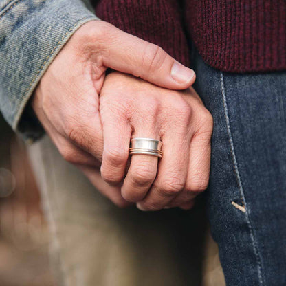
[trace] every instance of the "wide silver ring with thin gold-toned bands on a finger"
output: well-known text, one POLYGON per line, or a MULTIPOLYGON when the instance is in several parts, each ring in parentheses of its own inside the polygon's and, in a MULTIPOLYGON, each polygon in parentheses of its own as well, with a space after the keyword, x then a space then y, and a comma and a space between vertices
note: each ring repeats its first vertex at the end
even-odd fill
POLYGON ((161 148, 163 142, 160 140, 155 140, 152 138, 133 138, 131 139, 130 143, 130 155, 144 154, 162 158, 163 153, 161 148))

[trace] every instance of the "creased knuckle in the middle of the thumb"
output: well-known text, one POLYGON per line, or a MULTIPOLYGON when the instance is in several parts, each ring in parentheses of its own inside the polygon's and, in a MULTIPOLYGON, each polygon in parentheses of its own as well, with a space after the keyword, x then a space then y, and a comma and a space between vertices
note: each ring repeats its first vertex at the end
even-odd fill
POLYGON ((164 63, 165 58, 166 53, 162 47, 154 44, 146 45, 143 53, 143 63, 148 67, 148 72, 160 69, 164 63))

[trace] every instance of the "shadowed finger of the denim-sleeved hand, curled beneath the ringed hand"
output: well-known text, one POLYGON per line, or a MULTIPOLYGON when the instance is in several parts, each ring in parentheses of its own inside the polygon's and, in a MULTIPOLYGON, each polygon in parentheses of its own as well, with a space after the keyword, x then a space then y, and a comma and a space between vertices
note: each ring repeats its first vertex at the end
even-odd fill
POLYGON ((100 170, 88 166, 78 166, 78 168, 83 171, 89 181, 91 181, 91 184, 93 184, 102 195, 109 198, 116 206, 121 208, 131 206, 131 203, 122 198, 120 187, 109 186, 109 184, 102 179, 100 170))

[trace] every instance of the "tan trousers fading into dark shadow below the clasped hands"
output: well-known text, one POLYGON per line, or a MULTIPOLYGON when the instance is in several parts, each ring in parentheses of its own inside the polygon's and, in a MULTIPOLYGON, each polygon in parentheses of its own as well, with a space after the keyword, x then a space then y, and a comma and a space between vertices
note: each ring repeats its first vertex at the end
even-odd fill
POLYGON ((189 212, 120 209, 65 162, 48 137, 28 149, 50 224, 58 285, 223 285, 217 284, 223 281, 217 263, 203 259, 203 203, 189 212))

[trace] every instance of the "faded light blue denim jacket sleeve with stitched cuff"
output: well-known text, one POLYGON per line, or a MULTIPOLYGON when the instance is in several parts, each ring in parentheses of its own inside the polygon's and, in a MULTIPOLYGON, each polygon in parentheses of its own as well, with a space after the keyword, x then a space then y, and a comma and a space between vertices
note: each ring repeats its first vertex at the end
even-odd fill
POLYGON ((0 111, 24 137, 39 131, 19 122, 41 76, 70 36, 98 19, 88 2, 0 0, 0 111))

